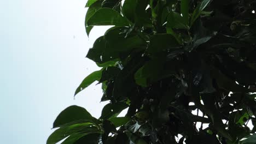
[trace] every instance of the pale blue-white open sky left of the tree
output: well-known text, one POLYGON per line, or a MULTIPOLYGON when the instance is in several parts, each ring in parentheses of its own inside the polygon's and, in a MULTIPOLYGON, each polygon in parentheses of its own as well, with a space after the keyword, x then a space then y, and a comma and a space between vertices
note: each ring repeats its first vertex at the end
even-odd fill
POLYGON ((1 143, 46 143, 57 115, 70 105, 99 117, 101 86, 73 98, 97 68, 86 53, 106 27, 85 34, 86 1, 11 0, 0 5, 1 143))

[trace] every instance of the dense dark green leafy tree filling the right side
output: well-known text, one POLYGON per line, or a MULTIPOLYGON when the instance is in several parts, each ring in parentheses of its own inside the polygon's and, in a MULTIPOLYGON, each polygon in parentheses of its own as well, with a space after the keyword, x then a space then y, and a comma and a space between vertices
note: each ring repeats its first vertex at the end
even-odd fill
POLYGON ((247 126, 256 124, 255 1, 89 0, 86 7, 88 35, 113 27, 86 56, 102 69, 75 94, 98 81, 109 104, 98 119, 67 107, 48 144, 66 137, 62 143, 256 143, 256 127, 247 126))

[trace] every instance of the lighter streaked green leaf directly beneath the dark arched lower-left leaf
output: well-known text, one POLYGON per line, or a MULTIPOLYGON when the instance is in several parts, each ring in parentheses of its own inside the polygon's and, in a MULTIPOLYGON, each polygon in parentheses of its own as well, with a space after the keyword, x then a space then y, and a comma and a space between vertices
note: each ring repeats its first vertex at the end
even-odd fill
POLYGON ((47 144, 55 144, 65 137, 72 135, 72 134, 92 134, 92 133, 101 133, 97 127, 95 127, 92 123, 80 123, 80 124, 73 124, 67 127, 62 127, 54 131, 48 137, 47 144))

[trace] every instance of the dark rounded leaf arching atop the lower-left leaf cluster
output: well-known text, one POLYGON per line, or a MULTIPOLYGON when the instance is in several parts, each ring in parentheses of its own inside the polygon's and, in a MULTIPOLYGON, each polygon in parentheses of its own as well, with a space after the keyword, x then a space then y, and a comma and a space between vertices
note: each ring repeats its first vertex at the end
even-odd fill
POLYGON ((72 105, 63 110, 54 121, 53 128, 60 127, 61 125, 71 123, 78 120, 86 120, 92 122, 95 120, 91 114, 83 107, 72 105))

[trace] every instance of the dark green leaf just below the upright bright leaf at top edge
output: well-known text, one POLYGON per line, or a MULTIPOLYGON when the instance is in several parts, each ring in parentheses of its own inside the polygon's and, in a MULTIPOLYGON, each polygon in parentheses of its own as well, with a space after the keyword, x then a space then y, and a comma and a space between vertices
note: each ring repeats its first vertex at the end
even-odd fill
POLYGON ((181 14, 176 13, 175 11, 170 11, 170 14, 167 17, 166 28, 189 29, 181 14))

